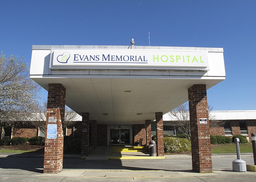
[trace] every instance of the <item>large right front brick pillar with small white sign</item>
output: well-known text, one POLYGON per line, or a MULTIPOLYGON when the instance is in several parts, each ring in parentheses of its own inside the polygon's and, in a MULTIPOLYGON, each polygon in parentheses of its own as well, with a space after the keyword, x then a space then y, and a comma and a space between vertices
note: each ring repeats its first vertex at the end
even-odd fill
POLYGON ((197 172, 212 172, 206 85, 193 85, 188 88, 188 102, 192 147, 192 170, 197 172), (200 118, 206 118, 207 123, 200 124, 200 118))

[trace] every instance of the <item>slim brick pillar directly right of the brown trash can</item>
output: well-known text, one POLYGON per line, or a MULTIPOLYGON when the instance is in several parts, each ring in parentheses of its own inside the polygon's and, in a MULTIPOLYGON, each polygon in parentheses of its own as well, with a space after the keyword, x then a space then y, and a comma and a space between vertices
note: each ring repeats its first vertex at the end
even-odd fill
POLYGON ((164 124, 162 112, 156 112, 156 140, 156 154, 157 156, 164 156, 164 124))

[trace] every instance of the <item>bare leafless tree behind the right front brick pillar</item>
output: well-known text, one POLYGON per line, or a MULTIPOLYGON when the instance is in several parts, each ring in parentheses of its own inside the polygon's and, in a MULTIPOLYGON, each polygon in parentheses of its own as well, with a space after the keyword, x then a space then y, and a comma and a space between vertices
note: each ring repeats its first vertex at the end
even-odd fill
MULTIPOLYGON (((208 105, 210 127, 218 127, 220 126, 221 121, 212 114, 212 109, 213 107, 211 105, 208 105)), ((168 115, 170 116, 170 118, 173 119, 173 122, 171 122, 170 125, 175 126, 175 128, 177 128, 182 133, 188 135, 188 137, 190 138, 191 135, 188 102, 185 102, 184 104, 181 104, 180 106, 171 110, 170 112, 168 112, 168 115)))

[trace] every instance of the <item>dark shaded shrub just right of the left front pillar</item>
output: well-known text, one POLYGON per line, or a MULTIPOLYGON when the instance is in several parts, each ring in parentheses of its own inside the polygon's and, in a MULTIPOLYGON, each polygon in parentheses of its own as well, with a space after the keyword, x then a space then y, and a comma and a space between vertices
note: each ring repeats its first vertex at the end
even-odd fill
POLYGON ((64 153, 81 153, 81 138, 69 138, 63 144, 64 153))

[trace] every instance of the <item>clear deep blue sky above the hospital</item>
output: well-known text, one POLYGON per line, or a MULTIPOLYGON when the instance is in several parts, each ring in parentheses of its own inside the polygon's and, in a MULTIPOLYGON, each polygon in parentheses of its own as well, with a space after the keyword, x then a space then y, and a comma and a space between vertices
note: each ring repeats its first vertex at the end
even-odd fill
MULTIPOLYGON (((226 80, 207 91, 213 110, 256 110, 256 1, 0 0, 0 51, 32 45, 224 48, 226 80), (229 104, 230 103, 230 104, 229 104)), ((42 97, 47 92, 42 91, 42 97)))

